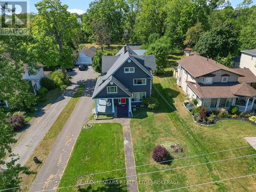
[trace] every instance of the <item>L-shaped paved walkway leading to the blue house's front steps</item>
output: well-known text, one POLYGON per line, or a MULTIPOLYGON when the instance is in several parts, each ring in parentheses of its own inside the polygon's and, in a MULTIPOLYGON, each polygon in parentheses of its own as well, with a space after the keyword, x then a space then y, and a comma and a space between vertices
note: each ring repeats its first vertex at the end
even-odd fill
POLYGON ((89 123, 120 123, 123 126, 123 145, 125 154, 126 180, 129 192, 138 192, 133 141, 130 127, 130 118, 114 118, 109 120, 91 120, 89 123), (132 176, 132 177, 130 177, 132 176))

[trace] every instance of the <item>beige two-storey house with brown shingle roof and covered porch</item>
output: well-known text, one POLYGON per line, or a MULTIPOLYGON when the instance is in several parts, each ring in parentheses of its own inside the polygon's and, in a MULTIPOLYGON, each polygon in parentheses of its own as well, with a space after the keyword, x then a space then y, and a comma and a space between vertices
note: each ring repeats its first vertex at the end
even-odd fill
POLYGON ((251 87, 256 76, 249 69, 229 69, 215 60, 191 55, 178 61, 177 84, 189 99, 208 111, 229 109, 252 110, 256 90, 251 87))

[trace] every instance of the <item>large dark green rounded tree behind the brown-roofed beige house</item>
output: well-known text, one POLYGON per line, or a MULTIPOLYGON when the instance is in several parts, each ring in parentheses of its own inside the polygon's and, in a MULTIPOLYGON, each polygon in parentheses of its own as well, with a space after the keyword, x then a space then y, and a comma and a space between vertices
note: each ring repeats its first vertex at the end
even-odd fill
POLYGON ((226 23, 203 33, 193 50, 212 58, 217 55, 226 57, 237 51, 237 36, 236 29, 226 23))

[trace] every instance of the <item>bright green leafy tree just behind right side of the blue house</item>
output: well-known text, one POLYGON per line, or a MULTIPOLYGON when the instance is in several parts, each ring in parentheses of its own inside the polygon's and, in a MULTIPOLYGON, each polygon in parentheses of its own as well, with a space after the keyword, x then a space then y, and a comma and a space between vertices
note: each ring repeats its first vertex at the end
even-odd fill
POLYGON ((167 37, 161 37, 153 44, 148 46, 146 52, 147 55, 155 55, 157 73, 162 73, 167 65, 167 56, 169 55, 172 47, 170 46, 170 39, 167 37))

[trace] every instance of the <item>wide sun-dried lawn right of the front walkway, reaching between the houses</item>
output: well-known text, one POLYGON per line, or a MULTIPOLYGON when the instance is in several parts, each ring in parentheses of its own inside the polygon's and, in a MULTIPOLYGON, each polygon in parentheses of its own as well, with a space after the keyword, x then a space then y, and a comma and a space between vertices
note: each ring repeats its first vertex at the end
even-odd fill
MULTIPOLYGON (((175 78, 167 74, 161 77, 155 77, 154 85, 176 110, 173 111, 160 98, 155 89, 153 89, 153 96, 157 97, 160 101, 159 109, 154 113, 148 112, 145 109, 140 109, 136 112, 138 116, 131 120, 136 165, 154 163, 151 156, 156 144, 164 144, 169 151, 169 146, 172 143, 180 144, 184 149, 183 153, 170 153, 174 159, 177 159, 246 146, 248 143, 243 137, 256 136, 256 126, 245 121, 222 120, 218 121, 214 126, 209 127, 199 126, 194 123, 191 115, 182 105, 182 102, 186 99, 185 95, 177 87, 175 78)), ((255 154, 255 150, 252 147, 197 158, 177 160, 164 165, 141 166, 137 167, 137 174, 249 154, 255 154)), ((253 164, 255 163, 256 156, 253 156, 138 176, 139 181, 146 180, 148 183, 162 180, 179 181, 178 185, 140 184, 139 189, 140 191, 159 191, 253 174, 255 173, 255 166, 254 171, 248 167, 253 169, 253 164)), ((179 191, 253 191, 255 187, 255 179, 244 178, 181 189, 179 191)))

